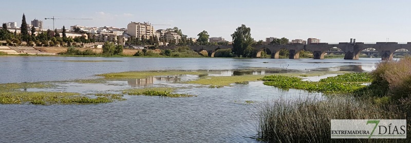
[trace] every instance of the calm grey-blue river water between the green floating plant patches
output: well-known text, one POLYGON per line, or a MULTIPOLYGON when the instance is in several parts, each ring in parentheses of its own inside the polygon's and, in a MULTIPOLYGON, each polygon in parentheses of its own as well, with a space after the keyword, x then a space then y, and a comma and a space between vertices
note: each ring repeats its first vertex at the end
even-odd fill
MULTIPOLYGON (((314 70, 366 72, 375 68, 378 62, 379 58, 320 60, 0 56, 0 83, 57 82, 97 78, 95 74, 101 73, 146 70, 221 70, 221 74, 215 76, 231 76, 238 69, 250 68, 258 69, 250 74, 264 74, 270 69, 305 73, 314 70)), ((186 86, 174 83, 175 79, 150 78, 148 80, 154 81, 148 84, 141 84, 139 79, 111 81, 109 84, 67 81, 58 83, 61 84, 58 89, 42 90, 91 93, 159 85, 186 86)), ((176 80, 196 78, 182 75, 176 80)), ((320 77, 312 80, 317 78, 320 77)), ((262 81, 215 89, 186 88, 178 92, 197 97, 125 96, 127 100, 98 105, 0 105, 0 142, 257 142, 244 136, 256 135, 253 114, 259 103, 279 98, 321 98, 320 93, 293 89, 284 91, 265 86, 262 81), (248 104, 246 101, 253 103, 248 104)))

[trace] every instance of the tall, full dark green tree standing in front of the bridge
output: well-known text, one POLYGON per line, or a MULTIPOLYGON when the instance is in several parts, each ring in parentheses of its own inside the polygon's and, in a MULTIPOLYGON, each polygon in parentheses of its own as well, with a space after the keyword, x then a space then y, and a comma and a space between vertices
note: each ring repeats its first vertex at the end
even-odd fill
POLYGON ((241 25, 231 34, 233 37, 233 52, 235 55, 241 57, 244 55, 244 50, 254 43, 251 37, 251 28, 246 25, 241 25))

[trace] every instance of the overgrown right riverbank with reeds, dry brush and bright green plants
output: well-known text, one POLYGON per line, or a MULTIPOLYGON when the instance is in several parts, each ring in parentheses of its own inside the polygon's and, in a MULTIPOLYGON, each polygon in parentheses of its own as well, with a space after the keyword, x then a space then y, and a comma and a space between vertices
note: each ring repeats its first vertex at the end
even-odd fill
MULTIPOLYGON (((332 77, 323 82, 358 84, 371 80, 370 86, 355 90, 334 90, 343 96, 314 97, 296 101, 274 100, 259 106, 255 119, 260 140, 270 142, 411 142, 407 139, 331 139, 331 119, 407 119, 407 136, 411 135, 411 58, 380 63, 369 76, 332 77), (364 77, 364 78, 357 78, 364 77)), ((353 75, 353 74, 350 74, 353 75)), ((348 75, 347 75, 348 76, 348 75)), ((306 89, 294 77, 267 76, 269 85, 306 89), (279 80, 283 78, 286 81, 279 80), (297 84, 296 84, 297 83, 297 84)), ((321 81, 320 81, 321 82, 321 81)), ((307 83, 304 83, 307 84, 307 83)), ((310 87, 310 85, 307 85, 310 87)), ((327 84, 321 89, 332 90, 327 84), (326 89, 323 89, 326 88, 326 89)), ((343 88, 345 89, 345 88, 343 88)), ((307 90, 311 90, 308 88, 307 90)))

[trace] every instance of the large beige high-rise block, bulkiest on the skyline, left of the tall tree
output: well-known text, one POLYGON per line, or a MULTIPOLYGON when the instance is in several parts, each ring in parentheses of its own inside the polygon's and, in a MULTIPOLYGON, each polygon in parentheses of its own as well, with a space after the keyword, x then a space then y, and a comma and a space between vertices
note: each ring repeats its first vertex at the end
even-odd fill
POLYGON ((127 25, 127 33, 139 38, 150 38, 150 36, 154 36, 154 27, 145 22, 131 22, 127 25))

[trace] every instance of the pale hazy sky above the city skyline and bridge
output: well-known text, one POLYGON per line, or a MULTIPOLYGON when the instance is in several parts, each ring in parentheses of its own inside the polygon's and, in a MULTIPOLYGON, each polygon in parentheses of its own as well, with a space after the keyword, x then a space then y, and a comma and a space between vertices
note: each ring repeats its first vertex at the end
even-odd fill
POLYGON ((241 24, 251 28, 255 40, 266 37, 291 39, 319 38, 321 42, 411 42, 411 1, 5 1, 0 22, 21 25, 42 19, 45 29, 52 20, 45 17, 92 18, 55 20, 55 27, 72 25, 127 28, 130 22, 171 25, 188 37, 203 30, 211 37, 226 38, 241 24))

